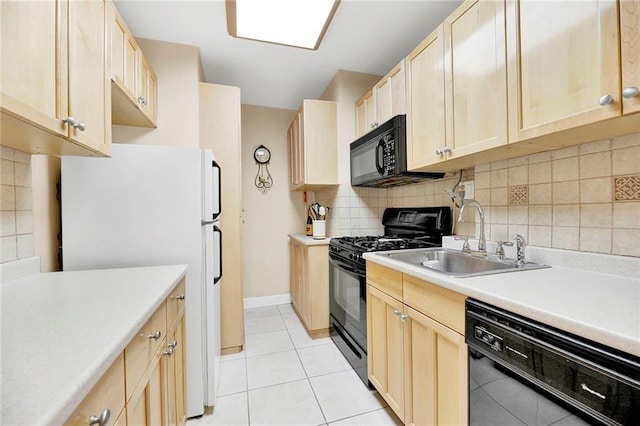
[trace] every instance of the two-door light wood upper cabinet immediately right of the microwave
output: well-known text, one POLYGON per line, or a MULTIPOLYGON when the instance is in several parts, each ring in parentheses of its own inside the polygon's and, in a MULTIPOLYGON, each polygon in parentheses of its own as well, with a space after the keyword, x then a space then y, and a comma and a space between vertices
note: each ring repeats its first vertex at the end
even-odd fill
POLYGON ((407 57, 409 170, 506 145, 504 19, 502 2, 467 1, 407 57))

